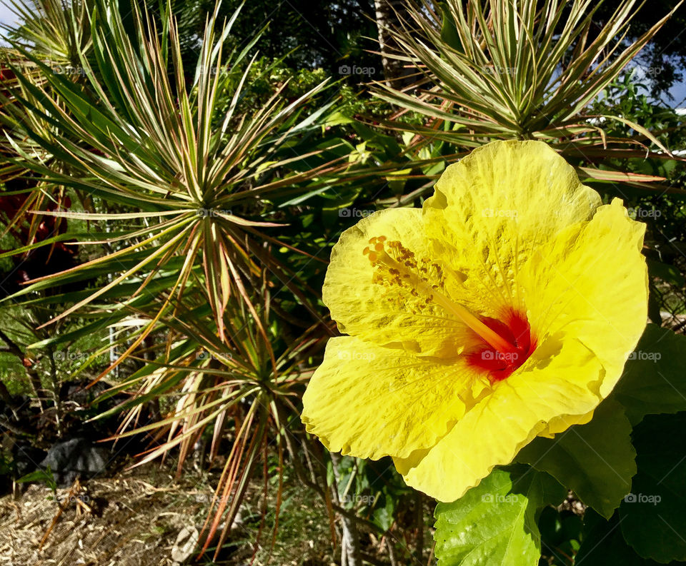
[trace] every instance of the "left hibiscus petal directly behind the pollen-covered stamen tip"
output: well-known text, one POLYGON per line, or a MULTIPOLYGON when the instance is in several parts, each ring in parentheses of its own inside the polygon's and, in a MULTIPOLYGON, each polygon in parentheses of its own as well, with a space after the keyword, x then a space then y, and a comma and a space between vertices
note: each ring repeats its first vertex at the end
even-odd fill
POLYGON ((389 209, 344 231, 332 250, 322 298, 342 333, 377 345, 453 356, 474 335, 429 298, 428 290, 442 289, 444 280, 424 236, 422 211, 389 209), (379 237, 385 238, 383 243, 370 243, 379 237), (409 256, 408 266, 399 266, 402 273, 397 275, 369 261, 370 254, 377 253, 375 246, 382 249, 393 242, 399 242, 409 256), (420 269, 425 271, 419 273, 420 269), (426 281, 417 281, 418 276, 426 281))

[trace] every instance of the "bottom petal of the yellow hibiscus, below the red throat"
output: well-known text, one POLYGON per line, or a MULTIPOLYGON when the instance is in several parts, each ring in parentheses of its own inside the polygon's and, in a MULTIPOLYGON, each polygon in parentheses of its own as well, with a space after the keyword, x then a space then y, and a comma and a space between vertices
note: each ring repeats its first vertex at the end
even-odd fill
POLYGON ((478 485, 495 465, 512 462, 548 421, 588 413, 603 369, 573 338, 550 337, 530 362, 497 384, 429 450, 394 458, 407 485, 440 501, 454 501, 478 485))

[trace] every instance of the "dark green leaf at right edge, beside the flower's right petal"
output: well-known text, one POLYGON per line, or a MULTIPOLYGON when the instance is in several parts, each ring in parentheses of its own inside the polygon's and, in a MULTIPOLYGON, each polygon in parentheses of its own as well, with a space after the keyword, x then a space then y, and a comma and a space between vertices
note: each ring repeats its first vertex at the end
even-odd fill
POLYGON ((624 405, 632 425, 645 415, 686 410, 684 351, 686 336, 647 325, 612 393, 624 405))

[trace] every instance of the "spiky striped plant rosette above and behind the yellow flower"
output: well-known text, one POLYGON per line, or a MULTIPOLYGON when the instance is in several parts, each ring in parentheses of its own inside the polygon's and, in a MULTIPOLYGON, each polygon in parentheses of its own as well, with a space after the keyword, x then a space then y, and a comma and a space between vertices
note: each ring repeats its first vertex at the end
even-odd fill
MULTIPOLYGON (((417 84, 398 91, 377 83, 374 92, 404 111, 429 118, 407 128, 417 139, 474 148, 493 139, 540 139, 597 181, 642 185, 662 178, 597 166, 602 158, 670 157, 646 128, 622 116, 592 115, 588 106, 638 54, 673 13, 635 41, 627 38, 637 2, 624 0, 600 27, 600 1, 447 0, 411 4, 400 29, 400 52, 414 67, 417 84), (603 121, 627 124, 634 135, 611 138, 603 121)), ((675 6, 677 9, 678 5, 675 6)), ((421 145, 421 144, 420 144, 421 145)))

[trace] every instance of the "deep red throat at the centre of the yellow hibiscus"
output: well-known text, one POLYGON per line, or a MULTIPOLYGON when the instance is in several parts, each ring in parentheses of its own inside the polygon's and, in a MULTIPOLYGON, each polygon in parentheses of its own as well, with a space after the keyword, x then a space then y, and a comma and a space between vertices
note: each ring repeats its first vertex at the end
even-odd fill
POLYGON ((467 355, 472 368, 488 374, 491 383, 507 379, 536 349, 536 338, 526 315, 511 310, 504 321, 484 316, 482 323, 494 330, 507 343, 507 348, 494 348, 483 338, 477 348, 467 355))

